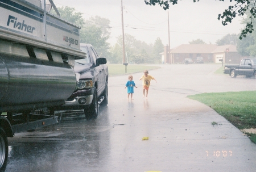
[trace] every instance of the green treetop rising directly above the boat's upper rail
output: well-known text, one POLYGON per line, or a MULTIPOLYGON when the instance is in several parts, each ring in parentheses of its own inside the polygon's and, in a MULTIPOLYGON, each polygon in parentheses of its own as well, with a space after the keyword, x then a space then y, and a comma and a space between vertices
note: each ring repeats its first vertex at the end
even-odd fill
MULTIPOLYGON (((60 17, 71 22, 79 27, 84 25, 84 19, 82 18, 81 12, 75 12, 75 8, 72 7, 57 7, 58 11, 60 12, 60 17)), ((55 11, 51 10, 53 14, 56 14, 55 11)))

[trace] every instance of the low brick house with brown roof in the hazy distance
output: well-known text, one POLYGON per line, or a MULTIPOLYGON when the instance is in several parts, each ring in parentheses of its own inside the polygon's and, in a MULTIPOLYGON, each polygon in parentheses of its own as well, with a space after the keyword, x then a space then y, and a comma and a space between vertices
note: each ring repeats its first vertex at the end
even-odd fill
POLYGON ((203 57, 204 62, 225 64, 238 64, 243 58, 238 52, 236 45, 213 45, 213 44, 181 44, 168 52, 168 46, 164 47, 162 62, 167 64, 183 63, 185 58, 191 58, 193 61, 196 57, 203 57))

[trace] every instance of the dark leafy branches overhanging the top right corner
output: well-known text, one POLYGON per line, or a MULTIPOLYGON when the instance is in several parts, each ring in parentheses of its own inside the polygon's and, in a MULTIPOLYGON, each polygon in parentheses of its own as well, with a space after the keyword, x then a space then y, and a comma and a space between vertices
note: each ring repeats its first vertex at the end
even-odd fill
MULTIPOLYGON (((160 5, 163 6, 164 10, 169 9, 170 5, 177 4, 179 0, 144 0, 147 5, 160 5)), ((181 1, 181 0, 180 0, 181 1)), ((199 0, 193 0, 196 2, 199 0)), ((224 1, 224 0, 219 0, 224 1)), ((247 33, 252 33, 254 31, 253 22, 256 18, 256 1, 255 0, 229 0, 230 2, 234 1, 234 5, 229 6, 222 14, 218 14, 218 20, 222 20, 221 23, 226 26, 228 23, 231 23, 232 20, 238 15, 243 16, 248 12, 249 20, 246 23, 246 27, 242 30, 239 39, 246 37, 247 33)))

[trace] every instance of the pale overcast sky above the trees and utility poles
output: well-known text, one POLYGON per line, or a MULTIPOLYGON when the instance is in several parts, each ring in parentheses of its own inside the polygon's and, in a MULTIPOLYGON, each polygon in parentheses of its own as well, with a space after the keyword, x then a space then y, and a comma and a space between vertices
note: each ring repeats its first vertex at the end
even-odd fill
MULTIPOLYGON (((74 7, 76 12, 82 12, 84 19, 91 16, 101 16, 110 20, 112 35, 108 40, 112 45, 121 30, 121 0, 55 0, 57 6, 74 7)), ((240 33, 243 27, 241 17, 237 16, 228 26, 222 26, 217 19, 229 5, 234 2, 214 0, 179 1, 170 5, 170 45, 171 48, 189 41, 202 39, 205 43, 215 44, 218 39, 230 33, 240 33)), ((123 20, 125 33, 135 36, 135 39, 154 44, 157 37, 168 44, 168 14, 159 5, 149 6, 144 0, 123 0, 123 20)))

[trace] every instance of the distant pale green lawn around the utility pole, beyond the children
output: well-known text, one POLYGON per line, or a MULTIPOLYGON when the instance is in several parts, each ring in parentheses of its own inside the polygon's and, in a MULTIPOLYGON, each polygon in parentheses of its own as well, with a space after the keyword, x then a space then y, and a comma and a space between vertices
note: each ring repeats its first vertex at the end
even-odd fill
MULTIPOLYGON (((114 75, 123 75, 125 73, 125 65, 122 64, 108 64, 110 77, 114 75)), ((148 65, 127 65, 127 74, 143 72, 144 70, 158 69, 159 66, 148 66, 148 65)))

